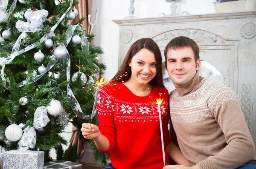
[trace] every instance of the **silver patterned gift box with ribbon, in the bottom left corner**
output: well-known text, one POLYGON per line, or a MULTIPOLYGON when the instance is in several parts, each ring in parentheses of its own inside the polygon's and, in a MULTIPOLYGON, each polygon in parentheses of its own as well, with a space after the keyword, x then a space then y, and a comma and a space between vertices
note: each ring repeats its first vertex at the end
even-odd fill
POLYGON ((44 152, 30 150, 4 152, 3 169, 44 169, 44 152))

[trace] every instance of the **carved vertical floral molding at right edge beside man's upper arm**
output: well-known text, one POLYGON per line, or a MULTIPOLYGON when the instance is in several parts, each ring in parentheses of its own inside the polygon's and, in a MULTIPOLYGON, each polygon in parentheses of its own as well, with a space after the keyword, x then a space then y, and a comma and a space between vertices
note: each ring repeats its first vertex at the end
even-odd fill
POLYGON ((241 109, 244 114, 245 121, 250 130, 253 133, 252 123, 253 123, 253 86, 242 84, 241 86, 241 109))

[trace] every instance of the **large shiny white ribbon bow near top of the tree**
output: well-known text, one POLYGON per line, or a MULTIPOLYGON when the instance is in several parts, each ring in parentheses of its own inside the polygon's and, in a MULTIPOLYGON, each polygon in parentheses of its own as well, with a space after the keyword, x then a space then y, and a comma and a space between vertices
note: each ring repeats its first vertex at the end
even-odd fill
POLYGON ((47 16, 48 11, 45 9, 33 11, 27 16, 27 22, 18 20, 15 27, 19 32, 36 32, 41 29, 47 16))

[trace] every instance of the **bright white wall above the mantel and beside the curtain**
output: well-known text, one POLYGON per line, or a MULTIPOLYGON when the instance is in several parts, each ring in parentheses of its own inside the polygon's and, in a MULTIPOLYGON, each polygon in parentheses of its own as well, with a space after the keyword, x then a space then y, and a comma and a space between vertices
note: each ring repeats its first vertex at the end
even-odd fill
MULTIPOLYGON (((215 13, 214 0, 182 0, 177 3, 176 13, 188 11, 189 14, 215 13)), ((171 3, 165 0, 135 0, 134 16, 158 17, 160 13, 169 14, 171 3)), ((93 0, 92 22, 95 20, 97 9, 97 23, 94 27, 94 44, 101 46, 104 54, 100 55, 100 61, 105 63, 107 79, 110 80, 118 70, 118 44, 119 26, 111 20, 119 20, 129 15, 129 0, 93 0)), ((125 55, 125 53, 124 53, 125 55)))

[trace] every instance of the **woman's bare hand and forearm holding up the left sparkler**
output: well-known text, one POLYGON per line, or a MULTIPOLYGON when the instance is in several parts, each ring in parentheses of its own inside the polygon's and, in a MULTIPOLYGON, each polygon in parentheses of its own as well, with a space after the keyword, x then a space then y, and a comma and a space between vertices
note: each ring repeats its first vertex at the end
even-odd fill
POLYGON ((102 151, 108 150, 110 145, 108 138, 101 134, 98 126, 90 123, 83 123, 81 132, 85 139, 93 139, 98 149, 102 151))

